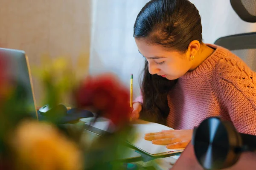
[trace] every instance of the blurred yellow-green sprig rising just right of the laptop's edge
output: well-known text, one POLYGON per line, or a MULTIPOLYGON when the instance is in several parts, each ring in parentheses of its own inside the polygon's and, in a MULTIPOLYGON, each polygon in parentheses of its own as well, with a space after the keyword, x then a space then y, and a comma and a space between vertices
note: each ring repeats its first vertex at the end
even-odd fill
POLYGON ((77 82, 75 68, 67 57, 51 59, 49 55, 43 55, 41 67, 32 66, 32 73, 43 86, 44 103, 52 106, 67 102, 65 99, 77 82))

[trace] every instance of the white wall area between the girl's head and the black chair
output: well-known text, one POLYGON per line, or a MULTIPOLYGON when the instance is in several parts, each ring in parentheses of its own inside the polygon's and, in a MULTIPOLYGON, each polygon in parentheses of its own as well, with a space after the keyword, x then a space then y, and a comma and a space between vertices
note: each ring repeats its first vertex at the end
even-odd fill
POLYGON ((256 23, 239 18, 230 0, 190 0, 198 8, 203 26, 203 39, 214 43, 220 37, 256 31, 256 23))

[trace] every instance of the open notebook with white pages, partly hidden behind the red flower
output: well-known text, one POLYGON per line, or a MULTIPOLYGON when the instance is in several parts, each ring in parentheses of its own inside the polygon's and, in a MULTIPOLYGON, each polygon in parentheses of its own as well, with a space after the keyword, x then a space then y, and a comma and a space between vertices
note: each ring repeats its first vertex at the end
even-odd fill
MULTIPOLYGON (((111 129, 108 129, 109 121, 107 119, 99 119, 96 123, 94 123, 93 127, 109 131, 111 129)), ((86 123, 89 125, 90 123, 86 123)), ((135 128, 135 140, 134 139, 127 139, 127 142, 131 144, 132 146, 136 147, 138 150, 143 151, 144 153, 147 153, 151 156, 161 156, 161 155, 168 155, 172 153, 179 153, 184 150, 184 148, 178 148, 178 149, 167 149, 166 145, 159 145, 159 144, 152 144, 151 141, 147 141, 144 139, 144 136, 146 133, 154 133, 154 132, 160 132, 162 130, 173 130, 170 127, 147 122, 143 120, 137 120, 133 122, 132 124, 135 128)), ((97 133, 97 132, 96 132, 97 133)))

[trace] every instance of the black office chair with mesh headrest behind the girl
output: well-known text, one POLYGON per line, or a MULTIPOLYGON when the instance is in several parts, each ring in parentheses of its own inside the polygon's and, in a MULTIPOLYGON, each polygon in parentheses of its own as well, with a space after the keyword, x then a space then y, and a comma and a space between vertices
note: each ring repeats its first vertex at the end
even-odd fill
MULTIPOLYGON (((230 0, 238 16, 256 23, 256 0, 230 0)), ((253 71, 256 71, 256 32, 221 37, 214 42, 239 56, 253 71)))

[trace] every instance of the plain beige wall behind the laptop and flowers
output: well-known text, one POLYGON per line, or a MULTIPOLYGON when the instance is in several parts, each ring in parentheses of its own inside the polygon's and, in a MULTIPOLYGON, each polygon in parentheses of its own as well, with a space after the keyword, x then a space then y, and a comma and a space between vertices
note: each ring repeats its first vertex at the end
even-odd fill
MULTIPOLYGON (((37 67, 43 67, 43 54, 70 57, 70 65, 84 54, 82 72, 87 74, 91 0, 0 0, 0 8, 0 47, 26 51, 30 65, 37 67)), ((41 82, 33 71, 32 77, 37 103, 44 105, 41 82)))

